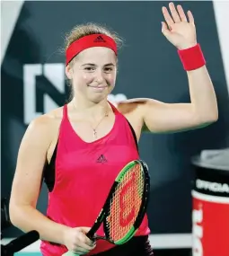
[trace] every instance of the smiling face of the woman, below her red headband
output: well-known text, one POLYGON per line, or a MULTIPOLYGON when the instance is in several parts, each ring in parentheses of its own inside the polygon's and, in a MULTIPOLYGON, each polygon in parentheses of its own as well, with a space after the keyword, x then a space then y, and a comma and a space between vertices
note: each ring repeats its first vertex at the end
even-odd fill
POLYGON ((72 80, 76 98, 84 97, 89 102, 101 102, 115 86, 117 57, 109 48, 84 49, 75 57, 72 66, 66 66, 66 75, 72 80))

